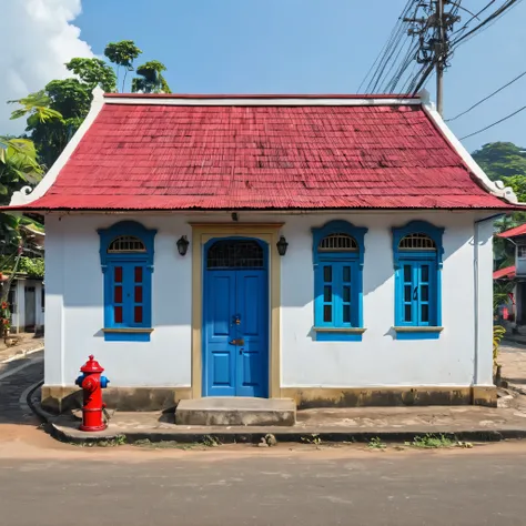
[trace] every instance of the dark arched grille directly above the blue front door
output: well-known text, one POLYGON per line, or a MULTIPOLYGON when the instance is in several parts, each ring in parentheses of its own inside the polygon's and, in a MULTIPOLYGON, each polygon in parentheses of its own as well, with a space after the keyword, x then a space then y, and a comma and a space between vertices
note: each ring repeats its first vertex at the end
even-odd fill
POLYGON ((255 241, 218 241, 206 254, 206 269, 263 267, 263 247, 255 241))

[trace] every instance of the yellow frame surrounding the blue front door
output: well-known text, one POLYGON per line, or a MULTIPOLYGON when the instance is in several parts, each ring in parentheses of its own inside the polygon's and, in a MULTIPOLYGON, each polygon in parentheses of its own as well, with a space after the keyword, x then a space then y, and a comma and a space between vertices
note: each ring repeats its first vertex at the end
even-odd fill
POLYGON ((190 223, 192 226, 192 398, 202 397, 203 252, 214 237, 255 237, 269 244, 269 397, 281 397, 281 262, 276 243, 283 223, 190 223))

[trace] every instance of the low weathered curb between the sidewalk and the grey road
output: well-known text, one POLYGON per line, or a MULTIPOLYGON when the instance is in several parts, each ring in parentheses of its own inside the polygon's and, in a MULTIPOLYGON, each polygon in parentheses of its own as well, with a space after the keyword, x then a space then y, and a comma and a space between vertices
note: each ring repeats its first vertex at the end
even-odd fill
POLYGON ((267 434, 274 435, 277 442, 281 443, 301 443, 310 444, 315 441, 327 442, 327 443, 368 443, 372 438, 380 438, 383 442, 388 443, 404 443, 412 442, 416 437, 423 437, 425 435, 444 435, 451 439, 457 442, 500 442, 505 439, 520 439, 526 438, 526 428, 520 429, 473 429, 473 431, 451 431, 451 429, 414 429, 414 431, 342 431, 342 432, 313 432, 308 431, 280 431, 275 427, 270 427, 266 432, 250 432, 241 429, 230 429, 218 433, 216 429, 206 431, 163 431, 163 432, 148 432, 148 431, 107 431, 103 434, 88 434, 80 433, 77 429, 70 432, 70 428, 57 425, 55 423, 50 424, 50 434, 60 442, 67 442, 70 444, 98 444, 108 442, 117 442, 133 444, 141 441, 150 441, 152 443, 160 442, 175 442, 179 444, 195 444, 195 443, 210 443, 216 444, 257 444, 262 442, 267 434))

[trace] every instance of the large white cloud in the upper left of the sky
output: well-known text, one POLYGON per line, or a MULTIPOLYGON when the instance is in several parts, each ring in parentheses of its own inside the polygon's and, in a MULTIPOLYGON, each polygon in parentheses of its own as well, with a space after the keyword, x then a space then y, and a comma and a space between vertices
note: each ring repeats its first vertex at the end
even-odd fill
POLYGON ((0 8, 0 135, 18 133, 24 122, 10 121, 12 104, 42 89, 50 80, 68 77, 64 62, 93 57, 71 22, 81 0, 2 0, 0 8))

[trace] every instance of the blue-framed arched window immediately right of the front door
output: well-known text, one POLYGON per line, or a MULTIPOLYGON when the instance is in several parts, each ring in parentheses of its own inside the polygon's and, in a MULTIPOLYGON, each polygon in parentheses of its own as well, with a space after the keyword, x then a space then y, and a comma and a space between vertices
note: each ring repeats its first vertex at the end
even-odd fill
POLYGON ((317 341, 360 341, 367 229, 332 221, 313 229, 314 331, 317 341))

